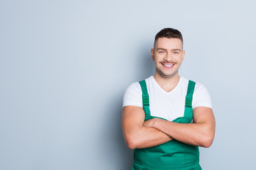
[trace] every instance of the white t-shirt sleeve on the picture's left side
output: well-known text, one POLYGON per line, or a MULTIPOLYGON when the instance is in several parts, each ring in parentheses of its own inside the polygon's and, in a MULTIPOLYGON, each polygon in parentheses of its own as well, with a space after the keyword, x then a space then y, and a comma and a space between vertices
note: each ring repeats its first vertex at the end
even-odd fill
POLYGON ((139 106, 142 104, 142 89, 139 82, 131 84, 124 93, 123 108, 124 106, 139 106))

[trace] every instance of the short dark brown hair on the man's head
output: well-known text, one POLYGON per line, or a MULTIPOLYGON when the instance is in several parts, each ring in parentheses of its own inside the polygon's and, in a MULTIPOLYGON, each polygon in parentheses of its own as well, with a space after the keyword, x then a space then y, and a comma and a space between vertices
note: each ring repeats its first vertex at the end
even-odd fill
POLYGON ((183 38, 182 38, 181 32, 179 32, 179 30, 176 30, 174 28, 164 28, 160 30, 159 33, 157 33, 155 36, 154 47, 156 45, 156 41, 159 38, 178 38, 181 40, 183 45, 183 38))

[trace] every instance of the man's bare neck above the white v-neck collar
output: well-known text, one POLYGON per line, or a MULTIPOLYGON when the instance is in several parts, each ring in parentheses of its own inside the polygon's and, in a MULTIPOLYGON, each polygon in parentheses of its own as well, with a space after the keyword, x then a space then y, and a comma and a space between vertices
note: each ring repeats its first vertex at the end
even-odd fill
POLYGON ((178 73, 173 77, 162 77, 159 74, 155 74, 154 79, 156 80, 157 84, 164 89, 164 91, 169 92, 177 86, 181 77, 178 75, 178 73))

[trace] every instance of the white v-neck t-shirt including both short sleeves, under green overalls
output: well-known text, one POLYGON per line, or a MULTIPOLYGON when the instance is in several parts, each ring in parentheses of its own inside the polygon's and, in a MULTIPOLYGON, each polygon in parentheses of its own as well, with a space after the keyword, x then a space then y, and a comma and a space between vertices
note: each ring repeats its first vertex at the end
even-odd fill
MULTIPOLYGON (((149 109, 151 116, 164 118, 172 121, 176 118, 183 117, 185 110, 186 93, 188 89, 188 79, 181 77, 177 86, 169 92, 157 84, 153 76, 146 79, 146 87, 149 93, 149 109)), ((124 93, 124 106, 139 106, 142 104, 142 88, 139 82, 131 84, 124 93)), ((205 106, 212 108, 210 95, 203 86, 196 82, 193 92, 192 107, 205 106)))

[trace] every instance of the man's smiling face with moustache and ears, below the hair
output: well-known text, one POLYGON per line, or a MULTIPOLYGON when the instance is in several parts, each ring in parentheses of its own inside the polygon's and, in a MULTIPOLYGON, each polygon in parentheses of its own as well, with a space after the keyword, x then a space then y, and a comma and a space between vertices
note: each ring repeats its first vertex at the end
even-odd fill
POLYGON ((151 57, 156 64, 156 76, 171 78, 178 75, 184 54, 180 39, 159 38, 154 49, 151 49, 151 57))

